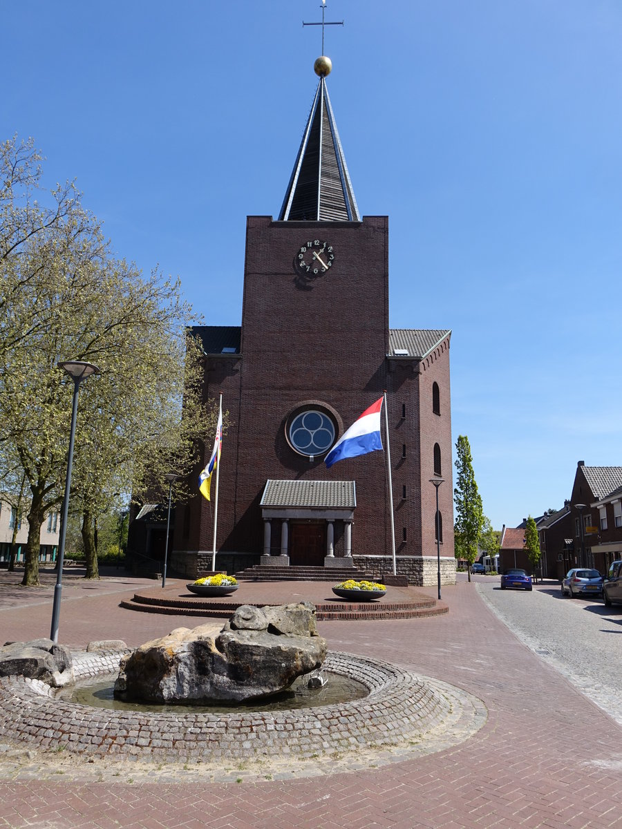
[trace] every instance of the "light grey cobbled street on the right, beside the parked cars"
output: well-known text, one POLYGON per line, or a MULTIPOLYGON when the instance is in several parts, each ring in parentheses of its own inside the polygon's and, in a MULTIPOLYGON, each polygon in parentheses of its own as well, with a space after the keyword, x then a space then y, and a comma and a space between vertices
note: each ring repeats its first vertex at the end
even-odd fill
POLYGON ((498 576, 474 576, 479 594, 508 628, 622 725, 622 606, 562 599, 547 581, 502 590, 498 576))

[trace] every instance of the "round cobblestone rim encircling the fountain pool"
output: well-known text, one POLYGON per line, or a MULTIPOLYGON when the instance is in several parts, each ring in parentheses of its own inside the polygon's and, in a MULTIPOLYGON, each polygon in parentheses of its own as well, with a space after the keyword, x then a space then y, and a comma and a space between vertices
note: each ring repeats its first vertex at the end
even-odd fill
MULTIPOLYGON (((76 653, 76 679, 114 671, 119 652, 76 653)), ((323 667, 367 686, 361 699, 304 710, 176 714, 109 710, 56 697, 41 681, 0 680, 0 737, 48 758, 63 752, 97 762, 196 764, 213 776, 226 764, 256 764, 279 756, 299 771, 321 770, 322 758, 365 768, 459 744, 485 723, 484 704, 444 682, 388 662, 330 653, 323 667)), ((100 764, 101 765, 101 764, 100 764)))

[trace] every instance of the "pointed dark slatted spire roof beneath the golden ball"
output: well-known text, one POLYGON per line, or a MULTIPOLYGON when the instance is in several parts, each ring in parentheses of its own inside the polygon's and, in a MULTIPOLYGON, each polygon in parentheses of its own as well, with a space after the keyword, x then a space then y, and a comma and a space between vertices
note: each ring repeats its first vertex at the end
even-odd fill
POLYGON ((324 78, 315 92, 279 221, 361 221, 324 78))

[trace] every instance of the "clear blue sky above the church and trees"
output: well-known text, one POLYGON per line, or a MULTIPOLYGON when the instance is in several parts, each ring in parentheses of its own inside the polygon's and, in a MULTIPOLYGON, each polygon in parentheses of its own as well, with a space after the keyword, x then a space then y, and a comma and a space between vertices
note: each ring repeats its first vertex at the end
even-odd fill
MULTIPOLYGON (((391 327, 451 328, 454 443, 500 528, 620 465, 622 4, 328 0, 328 89, 391 327)), ((275 216, 319 0, 7 2, 0 138, 75 178, 114 250, 238 325, 245 216, 275 216)))

